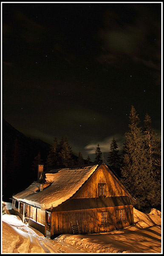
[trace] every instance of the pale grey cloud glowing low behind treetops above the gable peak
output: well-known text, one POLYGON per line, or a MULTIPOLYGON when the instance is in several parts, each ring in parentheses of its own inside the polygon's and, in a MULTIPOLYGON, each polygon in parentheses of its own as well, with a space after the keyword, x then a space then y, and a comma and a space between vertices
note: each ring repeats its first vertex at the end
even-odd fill
POLYGON ((125 137, 122 136, 121 134, 115 134, 113 136, 106 137, 102 141, 91 142, 85 147, 85 151, 87 152, 87 154, 95 154, 96 147, 99 144, 100 149, 103 153, 109 153, 110 144, 112 143, 113 137, 116 140, 119 151, 122 151, 122 146, 125 142, 125 137))

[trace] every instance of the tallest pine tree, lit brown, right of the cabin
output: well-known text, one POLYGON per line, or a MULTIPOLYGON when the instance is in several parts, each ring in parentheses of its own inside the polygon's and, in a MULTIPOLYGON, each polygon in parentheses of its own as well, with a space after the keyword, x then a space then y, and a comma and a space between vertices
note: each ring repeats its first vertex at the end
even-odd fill
POLYGON ((123 166, 122 183, 137 198, 136 204, 138 209, 144 207, 147 192, 145 188, 149 177, 144 168, 144 151, 141 140, 141 128, 138 128, 139 117, 135 108, 132 106, 130 111, 130 131, 125 134, 126 142, 123 146, 123 166))

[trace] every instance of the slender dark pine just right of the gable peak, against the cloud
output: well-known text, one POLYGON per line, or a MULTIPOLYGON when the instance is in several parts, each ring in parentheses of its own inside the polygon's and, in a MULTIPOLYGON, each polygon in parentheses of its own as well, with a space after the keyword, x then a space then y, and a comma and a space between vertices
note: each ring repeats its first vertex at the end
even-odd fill
POLYGON ((116 171, 117 175, 120 176, 120 163, 121 158, 119 156, 119 148, 116 143, 116 140, 113 138, 112 143, 110 144, 110 152, 107 157, 107 162, 109 165, 116 171))

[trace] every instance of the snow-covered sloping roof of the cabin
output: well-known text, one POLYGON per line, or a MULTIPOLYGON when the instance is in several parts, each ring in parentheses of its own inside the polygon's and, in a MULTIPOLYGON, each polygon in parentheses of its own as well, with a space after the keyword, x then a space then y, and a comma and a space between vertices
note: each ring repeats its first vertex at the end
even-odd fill
POLYGON ((47 183, 52 182, 51 186, 38 191, 40 183, 35 181, 27 189, 13 195, 13 198, 42 210, 57 207, 76 193, 93 174, 97 166, 65 168, 45 173, 45 180, 47 183))

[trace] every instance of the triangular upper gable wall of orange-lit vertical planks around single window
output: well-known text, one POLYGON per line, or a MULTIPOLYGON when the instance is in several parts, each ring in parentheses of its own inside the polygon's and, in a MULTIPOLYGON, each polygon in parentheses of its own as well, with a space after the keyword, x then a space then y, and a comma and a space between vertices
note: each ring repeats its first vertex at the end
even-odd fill
POLYGON ((106 197, 127 195, 126 191, 113 178, 105 166, 101 166, 96 173, 85 183, 79 191, 76 192, 74 198, 97 198, 98 183, 106 183, 106 197))

